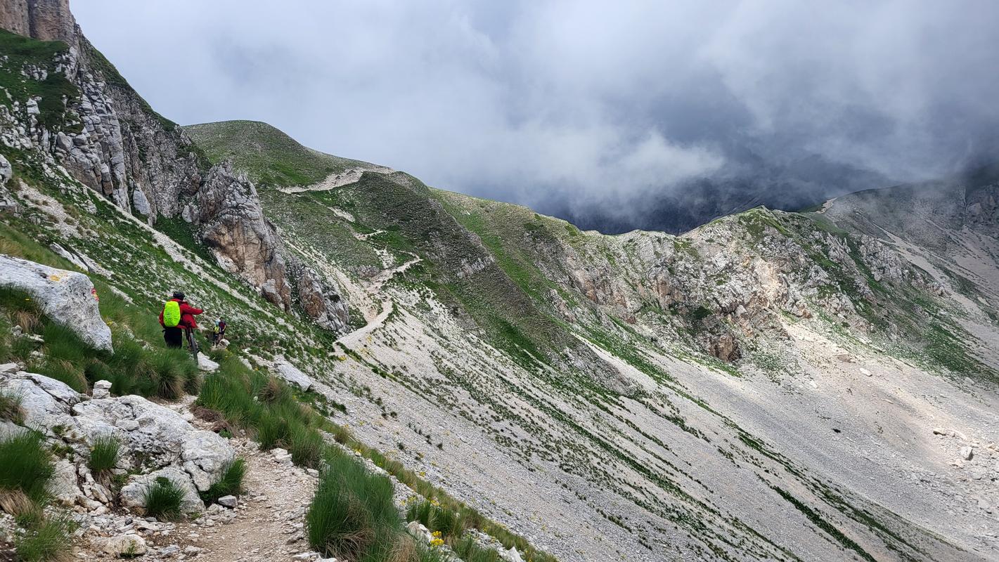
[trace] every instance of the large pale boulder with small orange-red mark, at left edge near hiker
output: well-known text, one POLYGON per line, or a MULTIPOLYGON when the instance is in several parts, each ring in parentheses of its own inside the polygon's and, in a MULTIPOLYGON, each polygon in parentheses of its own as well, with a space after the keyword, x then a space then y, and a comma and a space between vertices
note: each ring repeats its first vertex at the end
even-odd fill
POLYGON ((87 276, 0 256, 0 285, 30 294, 45 315, 90 346, 112 350, 111 329, 101 318, 97 290, 87 276))

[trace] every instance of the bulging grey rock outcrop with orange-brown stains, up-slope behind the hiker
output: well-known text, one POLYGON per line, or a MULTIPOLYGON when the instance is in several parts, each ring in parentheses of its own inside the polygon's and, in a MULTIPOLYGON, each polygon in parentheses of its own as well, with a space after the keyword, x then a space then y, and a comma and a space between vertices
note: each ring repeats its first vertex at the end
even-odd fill
POLYGON ((289 309, 284 247, 264 217, 257 189, 233 174, 228 163, 212 169, 205 184, 184 208, 223 270, 258 287, 265 298, 289 309))

